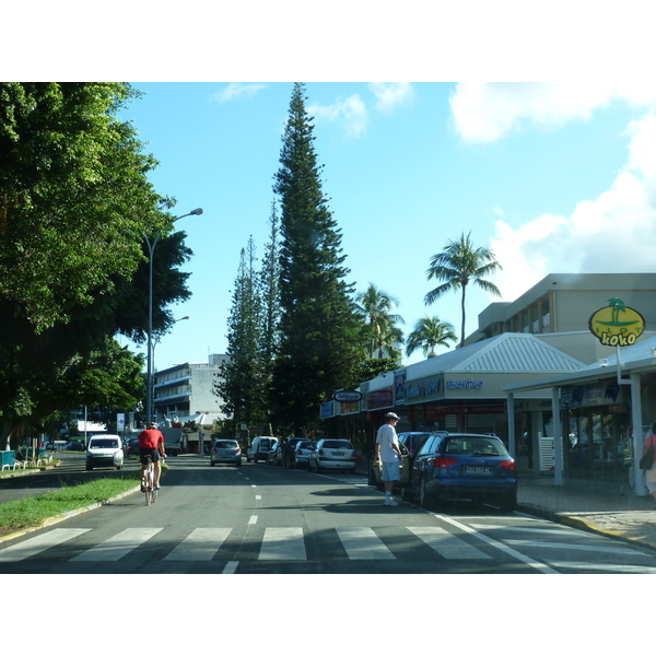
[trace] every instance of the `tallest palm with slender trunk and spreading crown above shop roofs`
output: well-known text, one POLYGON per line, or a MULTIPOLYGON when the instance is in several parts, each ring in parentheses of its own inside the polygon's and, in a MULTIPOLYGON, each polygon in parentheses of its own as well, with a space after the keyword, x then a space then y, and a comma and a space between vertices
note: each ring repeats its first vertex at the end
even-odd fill
POLYGON ((460 347, 465 344, 465 294, 467 285, 473 283, 485 292, 501 296, 496 285, 483 277, 501 270, 501 265, 494 259, 490 248, 475 248, 471 243, 471 233, 460 236, 458 242, 449 241, 444 250, 431 258, 431 266, 426 270, 427 279, 445 281, 444 284, 431 290, 424 298, 431 305, 436 298, 449 290, 462 290, 462 326, 460 332, 460 347))

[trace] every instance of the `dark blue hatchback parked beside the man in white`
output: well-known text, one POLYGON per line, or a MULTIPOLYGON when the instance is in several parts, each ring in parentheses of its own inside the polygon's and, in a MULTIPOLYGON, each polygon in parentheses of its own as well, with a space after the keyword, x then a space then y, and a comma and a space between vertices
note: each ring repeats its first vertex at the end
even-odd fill
POLYGON ((412 458, 407 495, 427 509, 446 499, 468 499, 512 512, 517 505, 517 466, 495 435, 434 434, 412 458))

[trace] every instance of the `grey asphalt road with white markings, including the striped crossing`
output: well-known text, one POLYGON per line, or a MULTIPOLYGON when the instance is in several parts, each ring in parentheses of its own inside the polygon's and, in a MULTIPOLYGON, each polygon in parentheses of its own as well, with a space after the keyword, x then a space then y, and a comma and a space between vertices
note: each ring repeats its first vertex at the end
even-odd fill
POLYGON ((656 573, 651 552, 520 513, 384 506, 358 476, 169 464, 155 505, 137 492, 4 541, 0 574, 656 573))

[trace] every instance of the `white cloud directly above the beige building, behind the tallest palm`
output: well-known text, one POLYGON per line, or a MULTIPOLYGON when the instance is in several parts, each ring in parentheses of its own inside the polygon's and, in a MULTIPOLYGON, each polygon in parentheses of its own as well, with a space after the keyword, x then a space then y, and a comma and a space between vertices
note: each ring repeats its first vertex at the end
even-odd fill
POLYGON ((628 163, 611 187, 570 216, 544 214, 514 230, 496 222, 494 277, 513 301, 548 273, 619 273, 656 269, 656 116, 629 127, 628 163))

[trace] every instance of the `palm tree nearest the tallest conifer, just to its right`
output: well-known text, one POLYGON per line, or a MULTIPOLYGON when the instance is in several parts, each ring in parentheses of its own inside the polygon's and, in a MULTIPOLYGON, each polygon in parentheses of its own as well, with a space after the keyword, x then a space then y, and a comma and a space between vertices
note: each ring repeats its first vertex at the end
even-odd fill
POLYGON ((401 315, 393 314, 398 301, 370 282, 367 290, 358 295, 355 303, 367 327, 370 358, 374 358, 375 352, 378 358, 383 358, 384 352, 394 358, 394 353, 399 353, 395 344, 403 341, 403 333, 396 325, 406 323, 401 315))

